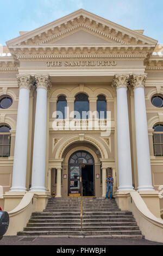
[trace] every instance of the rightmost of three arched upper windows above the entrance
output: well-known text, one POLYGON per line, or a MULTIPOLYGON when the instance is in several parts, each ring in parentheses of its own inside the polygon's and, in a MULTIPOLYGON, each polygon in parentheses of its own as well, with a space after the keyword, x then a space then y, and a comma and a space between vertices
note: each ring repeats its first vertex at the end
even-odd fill
POLYGON ((106 119, 106 97, 99 95, 97 99, 97 118, 106 119))

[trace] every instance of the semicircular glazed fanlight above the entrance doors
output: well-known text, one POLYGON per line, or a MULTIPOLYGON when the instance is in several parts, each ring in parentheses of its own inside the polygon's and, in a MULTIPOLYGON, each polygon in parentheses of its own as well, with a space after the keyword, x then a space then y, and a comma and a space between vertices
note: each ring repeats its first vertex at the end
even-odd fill
POLYGON ((90 153, 86 151, 78 151, 73 153, 69 159, 69 164, 79 164, 79 163, 94 163, 93 157, 90 153))

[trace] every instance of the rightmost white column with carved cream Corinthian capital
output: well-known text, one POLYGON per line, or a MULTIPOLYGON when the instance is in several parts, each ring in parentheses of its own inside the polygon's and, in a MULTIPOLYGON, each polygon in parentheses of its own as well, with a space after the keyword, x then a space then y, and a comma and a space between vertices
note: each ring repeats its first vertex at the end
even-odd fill
POLYGON ((139 191, 153 190, 144 89, 146 78, 147 75, 144 74, 133 75, 132 79, 135 99, 135 128, 139 191))

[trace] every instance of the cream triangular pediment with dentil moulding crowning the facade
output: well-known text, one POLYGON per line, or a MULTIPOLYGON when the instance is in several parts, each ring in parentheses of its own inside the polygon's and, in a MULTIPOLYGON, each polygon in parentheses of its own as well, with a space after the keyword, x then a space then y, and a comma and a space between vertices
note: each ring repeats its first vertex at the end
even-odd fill
POLYGON ((156 45, 157 41, 80 9, 7 42, 8 47, 42 44, 156 45), (87 34, 85 34, 87 33, 87 34), (82 38, 82 34, 84 35, 82 38), (87 35, 87 38, 86 38, 87 35))

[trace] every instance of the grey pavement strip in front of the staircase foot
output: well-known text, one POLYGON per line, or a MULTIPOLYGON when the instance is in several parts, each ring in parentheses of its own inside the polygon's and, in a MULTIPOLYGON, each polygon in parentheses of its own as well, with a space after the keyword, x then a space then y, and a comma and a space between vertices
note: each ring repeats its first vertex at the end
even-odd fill
POLYGON ((145 239, 98 239, 98 238, 66 238, 66 237, 43 237, 43 236, 4 236, 0 240, 1 245, 163 245, 145 239))

